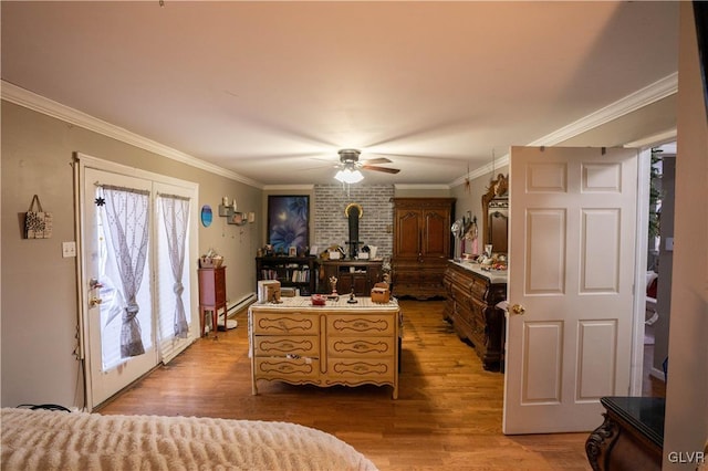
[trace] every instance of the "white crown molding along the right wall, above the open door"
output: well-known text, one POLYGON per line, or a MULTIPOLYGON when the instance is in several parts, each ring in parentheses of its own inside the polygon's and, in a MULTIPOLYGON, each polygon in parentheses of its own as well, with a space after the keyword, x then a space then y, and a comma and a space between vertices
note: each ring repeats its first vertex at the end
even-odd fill
MULTIPOLYGON (((624 98, 621 98, 603 108, 597 109, 594 113, 589 114, 585 117, 582 117, 568 126, 563 126, 562 128, 554 130, 553 133, 546 134, 545 136, 533 140, 532 143, 527 144, 527 146, 554 146, 559 143, 570 139, 571 137, 575 137, 580 134, 583 134, 590 129, 593 129, 597 126, 602 126, 603 124, 610 123, 613 119, 617 119, 628 113, 637 111, 644 106, 650 105, 652 103, 658 102, 662 98, 666 98, 678 92, 678 72, 675 72, 670 75, 665 76, 650 85, 641 88, 624 98)), ((664 133, 660 137, 666 138, 666 136, 670 134, 670 132, 664 133)), ((674 136, 675 136, 674 132, 674 136)), ((652 136, 646 139, 642 139, 641 142, 657 142, 659 137, 652 136)), ((636 143, 641 143, 636 142, 636 143)), ((632 144, 632 143, 631 143, 632 144)), ((503 167, 504 165, 509 165, 509 154, 498 158, 494 163, 489 163, 483 167, 471 171, 469 175, 460 177, 452 181, 450 187, 457 187, 459 185, 465 184, 467 178, 475 179, 481 177, 482 175, 487 175, 490 171, 493 171, 498 167, 503 167), (494 168, 492 168, 492 165, 494 168)))

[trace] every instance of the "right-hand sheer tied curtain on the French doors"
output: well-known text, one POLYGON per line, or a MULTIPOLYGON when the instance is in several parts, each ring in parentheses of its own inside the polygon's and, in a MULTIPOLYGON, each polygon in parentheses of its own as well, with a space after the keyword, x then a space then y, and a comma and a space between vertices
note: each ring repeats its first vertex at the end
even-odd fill
POLYGON ((167 236, 167 249, 169 264, 174 278, 173 291, 175 293, 175 321, 174 334, 179 338, 187 338, 189 325, 185 314, 183 301, 183 273, 185 269, 185 248, 187 229, 189 227, 189 198, 176 195, 159 195, 162 203, 165 233, 167 236))

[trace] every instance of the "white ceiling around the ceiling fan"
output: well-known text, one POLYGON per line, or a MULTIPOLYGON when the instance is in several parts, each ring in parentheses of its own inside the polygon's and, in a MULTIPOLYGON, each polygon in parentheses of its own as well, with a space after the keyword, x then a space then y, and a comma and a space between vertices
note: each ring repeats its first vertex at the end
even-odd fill
POLYGON ((677 2, 2 1, 2 80, 259 186, 345 147, 450 185, 675 76, 677 36, 677 2))

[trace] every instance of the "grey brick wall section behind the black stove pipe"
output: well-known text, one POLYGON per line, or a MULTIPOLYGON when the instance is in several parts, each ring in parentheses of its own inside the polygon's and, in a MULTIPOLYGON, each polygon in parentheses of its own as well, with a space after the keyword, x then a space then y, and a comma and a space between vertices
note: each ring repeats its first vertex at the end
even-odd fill
POLYGON ((355 202, 364 210, 358 220, 358 239, 366 245, 378 247, 376 257, 393 252, 393 185, 314 186, 314 242, 322 252, 330 245, 342 245, 348 254, 348 220, 344 209, 355 202))

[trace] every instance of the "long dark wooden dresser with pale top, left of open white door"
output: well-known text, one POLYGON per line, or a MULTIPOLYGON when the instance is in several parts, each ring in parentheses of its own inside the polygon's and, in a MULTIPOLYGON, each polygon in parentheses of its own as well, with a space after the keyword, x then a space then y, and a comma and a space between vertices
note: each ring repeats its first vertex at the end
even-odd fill
POLYGON ((475 346, 485 369, 501 369, 504 313, 497 303, 507 299, 507 273, 486 272, 477 264, 449 261, 445 287, 444 317, 452 323, 460 338, 475 346))

